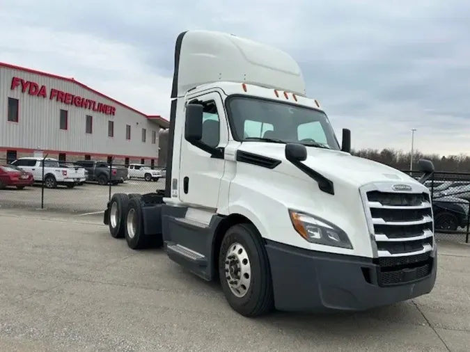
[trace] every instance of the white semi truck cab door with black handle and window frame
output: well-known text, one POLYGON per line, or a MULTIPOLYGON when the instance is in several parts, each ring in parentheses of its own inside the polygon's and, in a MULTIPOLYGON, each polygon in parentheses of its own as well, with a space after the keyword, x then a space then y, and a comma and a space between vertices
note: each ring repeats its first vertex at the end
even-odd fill
MULTIPOLYGON (((222 98, 219 93, 205 93, 188 98, 203 104, 203 139, 212 147, 225 147, 228 143, 228 127, 222 98)), ((182 202, 194 207, 217 209, 221 178, 224 175, 224 159, 185 141, 182 134, 180 154, 179 196, 182 202)))

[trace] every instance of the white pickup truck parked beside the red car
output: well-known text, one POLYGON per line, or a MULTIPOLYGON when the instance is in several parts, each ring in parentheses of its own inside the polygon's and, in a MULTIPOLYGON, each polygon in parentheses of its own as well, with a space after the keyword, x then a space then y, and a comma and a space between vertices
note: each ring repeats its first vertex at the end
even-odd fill
MULTIPOLYGON (((34 182, 42 182, 42 158, 24 157, 13 161, 12 165, 33 174, 34 182)), ((58 185, 72 189, 86 178, 84 168, 61 167, 57 159, 44 159, 44 185, 55 189, 58 185)))

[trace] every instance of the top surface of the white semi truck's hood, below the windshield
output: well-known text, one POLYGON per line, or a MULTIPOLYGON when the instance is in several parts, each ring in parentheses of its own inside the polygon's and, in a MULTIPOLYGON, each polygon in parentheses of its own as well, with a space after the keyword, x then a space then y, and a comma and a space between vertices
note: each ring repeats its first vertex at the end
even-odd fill
MULTIPOLYGON (((282 163, 274 169, 304 179, 299 170, 285 159, 285 144, 244 142, 239 150, 251 152, 265 157, 281 160, 282 163)), ((371 182, 406 182, 419 184, 416 179, 409 177, 395 168, 376 161, 353 157, 351 154, 338 150, 327 150, 317 147, 307 147, 308 157, 303 163, 309 168, 322 174, 332 181, 345 182, 360 187, 371 182)), ((303 173, 302 173, 303 174, 303 173)), ((423 186, 423 189, 425 187, 423 186)))

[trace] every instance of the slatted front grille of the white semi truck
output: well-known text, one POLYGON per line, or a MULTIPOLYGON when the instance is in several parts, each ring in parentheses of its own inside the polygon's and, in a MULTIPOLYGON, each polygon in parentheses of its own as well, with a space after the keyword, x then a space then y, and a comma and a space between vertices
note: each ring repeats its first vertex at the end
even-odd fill
POLYGON ((373 184, 361 191, 381 286, 425 278, 434 260, 430 195, 416 187, 411 192, 393 191, 392 185, 373 184))

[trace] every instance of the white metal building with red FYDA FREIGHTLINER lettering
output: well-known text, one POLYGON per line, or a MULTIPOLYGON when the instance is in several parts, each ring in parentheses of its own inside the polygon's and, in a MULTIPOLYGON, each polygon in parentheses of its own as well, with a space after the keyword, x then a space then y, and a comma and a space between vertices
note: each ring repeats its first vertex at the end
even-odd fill
POLYGON ((73 78, 0 63, 0 163, 32 155, 157 165, 159 130, 146 115, 73 78))

